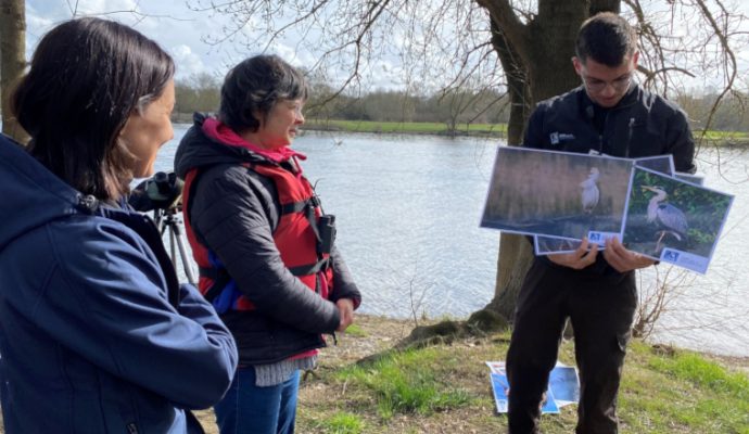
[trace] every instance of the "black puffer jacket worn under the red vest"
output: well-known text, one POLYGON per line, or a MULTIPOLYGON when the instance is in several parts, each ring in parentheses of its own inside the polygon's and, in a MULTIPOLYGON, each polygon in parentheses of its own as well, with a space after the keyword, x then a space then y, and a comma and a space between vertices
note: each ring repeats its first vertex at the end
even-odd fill
POLYGON ((360 303, 348 268, 333 248, 333 291, 326 301, 284 267, 272 238, 280 215, 276 186, 241 165, 267 161, 206 137, 203 120, 196 114, 182 138, 175 171, 185 178, 191 169, 200 169, 191 191, 190 225, 255 305, 255 310, 221 315, 237 341, 240 363, 271 363, 325 346, 320 334, 332 333, 340 323, 334 302, 360 303))

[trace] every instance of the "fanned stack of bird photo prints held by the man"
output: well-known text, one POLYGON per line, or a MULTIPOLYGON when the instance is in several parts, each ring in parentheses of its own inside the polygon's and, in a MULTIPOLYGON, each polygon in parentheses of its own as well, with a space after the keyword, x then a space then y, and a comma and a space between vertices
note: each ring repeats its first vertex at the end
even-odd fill
POLYGON ((671 155, 619 158, 499 146, 481 226, 533 237, 536 255, 587 239, 706 273, 734 196, 674 170, 671 155))

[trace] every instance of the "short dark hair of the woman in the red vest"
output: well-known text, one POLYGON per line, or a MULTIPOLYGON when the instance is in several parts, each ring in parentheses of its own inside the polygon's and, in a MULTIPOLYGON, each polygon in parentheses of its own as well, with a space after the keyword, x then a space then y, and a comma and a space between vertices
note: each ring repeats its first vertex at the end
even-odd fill
POLYGON ((256 55, 238 64, 221 86, 218 118, 237 132, 257 131, 278 100, 306 100, 304 76, 277 55, 256 55))

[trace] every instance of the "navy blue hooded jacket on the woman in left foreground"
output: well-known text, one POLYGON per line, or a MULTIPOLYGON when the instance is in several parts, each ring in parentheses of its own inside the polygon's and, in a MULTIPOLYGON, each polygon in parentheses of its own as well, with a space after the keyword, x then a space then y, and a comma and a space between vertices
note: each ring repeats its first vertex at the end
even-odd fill
POLYGON ((221 398, 237 348, 213 307, 160 265, 157 234, 0 136, 7 433, 201 432, 185 410, 221 398))

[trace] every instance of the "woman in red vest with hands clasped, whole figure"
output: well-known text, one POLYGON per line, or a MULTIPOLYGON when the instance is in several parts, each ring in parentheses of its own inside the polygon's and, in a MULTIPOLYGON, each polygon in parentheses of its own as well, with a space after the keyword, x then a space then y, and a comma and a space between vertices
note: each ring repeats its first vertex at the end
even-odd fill
POLYGON ((217 118, 196 114, 175 158, 200 290, 240 354, 215 407, 221 433, 293 433, 300 370, 361 299, 333 245, 334 218, 290 148, 307 92, 278 56, 250 58, 227 75, 217 118))

